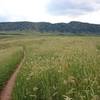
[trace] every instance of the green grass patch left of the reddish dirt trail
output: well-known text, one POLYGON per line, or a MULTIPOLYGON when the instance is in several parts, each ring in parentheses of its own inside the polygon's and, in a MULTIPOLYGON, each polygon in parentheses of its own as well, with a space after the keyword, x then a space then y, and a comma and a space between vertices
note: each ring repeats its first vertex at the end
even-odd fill
POLYGON ((12 47, 0 50, 0 90, 11 77, 22 57, 22 47, 12 47))

